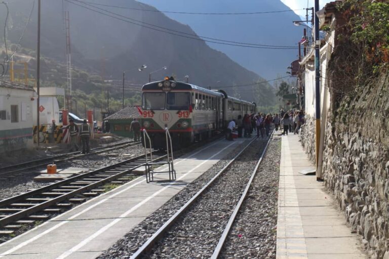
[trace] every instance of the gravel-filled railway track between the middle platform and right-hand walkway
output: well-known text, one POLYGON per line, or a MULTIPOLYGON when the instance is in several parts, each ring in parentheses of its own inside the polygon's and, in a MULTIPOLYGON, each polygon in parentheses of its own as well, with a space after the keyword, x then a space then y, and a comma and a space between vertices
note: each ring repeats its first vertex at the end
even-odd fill
MULTIPOLYGON (((262 158, 267 150, 267 147, 270 143, 271 136, 269 140, 267 141, 265 147, 263 148, 263 151, 259 157, 259 160, 254 163, 251 167, 251 174, 247 176, 239 176, 237 178, 236 172, 233 172, 232 175, 235 174, 235 180, 247 180, 246 184, 242 184, 242 186, 239 186, 239 190, 236 190, 237 188, 234 187, 235 195, 241 195, 240 198, 237 196, 234 201, 230 201, 231 199, 228 199, 227 195, 218 193, 218 190, 214 189, 227 189, 226 192, 231 192, 231 190, 228 190, 227 186, 220 186, 220 184, 223 183, 223 178, 227 178, 227 174, 230 174, 228 171, 234 171, 234 165, 238 162, 238 158, 240 158, 243 154, 245 154, 245 151, 249 149, 249 147, 253 144, 255 141, 252 140, 248 145, 244 147, 243 150, 241 150, 233 159, 231 159, 227 165, 225 165, 216 175, 213 177, 207 184, 204 185, 204 187, 198 191, 195 195, 193 195, 165 224, 158 229, 154 234, 143 243, 143 245, 131 256, 131 258, 163 258, 164 255, 167 255, 166 253, 163 254, 165 251, 171 251, 171 253, 168 253, 167 257, 187 257, 192 256, 193 253, 187 252, 188 254, 185 254, 185 252, 180 253, 176 250, 180 249, 188 249, 188 245, 192 246, 191 250, 197 251, 197 246, 201 246, 203 243, 207 243, 208 246, 211 246, 213 249, 212 251, 208 251, 207 253, 203 253, 206 257, 217 258, 220 254, 220 252, 223 249, 224 242, 229 234, 229 231, 231 229, 232 224, 235 221, 236 215, 238 214, 241 205, 243 201, 246 198, 246 195, 248 193, 248 190, 250 189, 251 183, 255 177, 255 174, 258 170, 258 167, 262 161, 262 158), (219 186, 218 186, 219 185, 219 186), (216 187, 216 188, 215 188, 216 187), (213 215, 210 217, 208 215, 205 216, 204 214, 207 214, 209 211, 212 210, 212 208, 207 207, 207 205, 203 205, 203 199, 208 199, 210 196, 214 196, 215 194, 209 194, 209 193, 217 193, 216 197, 212 197, 211 201, 207 201, 208 203, 216 203, 216 204, 223 204, 223 203, 229 203, 226 207, 223 208, 224 211, 212 211, 210 212, 213 215), (204 197, 209 196, 209 197, 204 197), (223 197, 223 198, 220 198, 223 197), (212 201, 213 199, 213 201, 212 201), (216 200, 215 200, 216 199, 216 200), (237 201, 236 203, 235 200, 237 201), (228 202, 227 202, 228 201, 228 202), (232 204, 234 203, 234 204, 232 204), (201 204, 201 205, 199 205, 201 204), (196 206, 200 208, 195 208, 196 206), (225 212, 228 210, 228 212, 225 212), (202 223, 196 221, 196 216, 193 216, 194 214, 199 214, 198 218, 203 218, 203 220, 206 221, 212 221, 213 225, 211 228, 213 228, 212 232, 216 232, 215 235, 218 235, 219 242, 216 244, 211 244, 209 239, 213 237, 207 236, 204 237, 204 234, 202 232, 205 232, 206 227, 199 227, 202 223), (225 215, 222 214, 228 214, 228 217, 226 218, 225 215), (201 232, 200 237, 197 237, 196 234, 191 234, 190 230, 185 232, 183 229, 185 229, 185 224, 189 226, 189 228, 197 229, 201 232), (193 227, 194 226, 194 227, 193 227), (217 227, 215 227, 217 226, 217 227), (220 227, 221 226, 221 227, 220 227), (220 230, 222 228, 223 230, 220 230), (173 233, 174 232, 174 233, 173 233), (169 236, 169 238, 167 237, 169 236), (180 243, 179 244, 172 244, 170 245, 170 242, 174 242, 172 240, 188 240, 188 243, 180 243), (193 242, 196 240, 196 242, 193 242)), ((225 182, 224 182, 225 183, 225 182)), ((215 239, 217 240, 217 239, 215 239)), ((199 255, 199 254, 198 254, 199 255)))

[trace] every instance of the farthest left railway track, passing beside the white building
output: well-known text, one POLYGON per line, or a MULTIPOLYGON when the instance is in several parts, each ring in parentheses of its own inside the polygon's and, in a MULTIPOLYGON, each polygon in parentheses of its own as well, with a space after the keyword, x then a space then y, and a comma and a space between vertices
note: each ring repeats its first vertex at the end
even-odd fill
POLYGON ((7 177, 10 175, 17 174, 18 172, 24 172, 26 170, 34 169, 37 167, 46 167, 46 165, 50 162, 61 162, 61 161, 68 161, 76 158, 81 158, 84 156, 92 155, 92 154, 99 154, 99 153, 104 153, 108 152, 111 150, 115 150, 118 148, 124 148, 128 146, 135 146, 137 144, 140 144, 140 142, 133 142, 133 141, 128 141, 124 143, 118 143, 118 144, 113 144, 113 145, 108 145, 104 147, 98 147, 98 148, 93 148, 91 149, 91 152, 88 154, 80 154, 80 151, 77 152, 70 152, 66 154, 60 154, 48 158, 42 158, 42 159, 37 159, 37 160, 32 160, 32 161, 27 161, 19 164, 14 164, 14 165, 9 165, 9 166, 4 166, 0 167, 0 177, 7 177))

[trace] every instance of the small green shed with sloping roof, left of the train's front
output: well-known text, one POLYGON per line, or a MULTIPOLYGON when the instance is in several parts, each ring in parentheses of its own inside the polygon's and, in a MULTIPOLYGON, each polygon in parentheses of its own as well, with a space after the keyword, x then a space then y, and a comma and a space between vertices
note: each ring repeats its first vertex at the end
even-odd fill
POLYGON ((140 106, 130 105, 106 117, 104 120, 108 120, 109 122, 110 133, 126 138, 133 138, 130 125, 134 118, 140 118, 139 110, 140 106))

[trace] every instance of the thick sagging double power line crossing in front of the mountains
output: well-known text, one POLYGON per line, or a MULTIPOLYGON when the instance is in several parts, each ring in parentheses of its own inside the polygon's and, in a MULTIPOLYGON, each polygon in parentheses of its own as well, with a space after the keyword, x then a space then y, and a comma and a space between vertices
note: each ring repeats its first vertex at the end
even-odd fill
POLYGON ((116 16, 128 19, 128 20, 135 21, 135 22, 131 22, 131 21, 128 21, 128 20, 125 20, 125 19, 122 19, 122 18, 119 18, 119 17, 115 17, 115 16, 112 16, 112 15, 100 12, 98 10, 94 10, 94 9, 88 8, 86 6, 74 3, 74 2, 82 3, 79 0, 65 0, 65 1, 70 3, 70 4, 73 4, 73 5, 76 5, 76 6, 85 8, 85 9, 88 9, 90 11, 93 11, 93 12, 96 12, 96 13, 99 13, 99 14, 102 14, 102 15, 105 15, 105 16, 117 19, 117 20, 121 20, 121 21, 128 22, 128 23, 131 23, 131 24, 134 24, 134 25, 138 25, 138 26, 141 26, 141 27, 145 27, 145 28, 148 28, 148 29, 155 30, 155 31, 160 31, 160 32, 164 32, 164 33, 168 33, 168 34, 171 34, 171 35, 176 35, 176 36, 180 36, 180 37, 184 37, 184 38, 201 40, 201 41, 215 43, 215 44, 220 44, 220 45, 237 46, 237 47, 254 48, 254 49, 277 49, 277 50, 297 50, 298 49, 298 47, 292 47, 292 46, 274 46, 274 45, 250 44, 250 43, 245 43, 245 42, 221 40, 221 39, 217 39, 217 38, 210 38, 210 37, 205 37, 205 36, 201 36, 201 35, 190 34, 190 33, 186 33, 186 32, 181 32, 181 31, 177 31, 177 30, 172 30, 172 29, 169 29, 169 28, 161 27, 161 26, 158 26, 158 25, 153 25, 153 24, 145 23, 145 22, 138 21, 138 20, 135 20, 135 19, 132 19, 132 18, 120 15, 120 14, 116 14, 116 13, 113 13, 113 12, 110 12, 110 11, 107 11, 107 10, 104 10, 104 9, 101 9, 101 8, 98 8, 98 7, 89 5, 89 4, 84 4, 84 5, 89 5, 89 6, 93 7, 93 8, 102 10, 103 12, 110 13, 110 14, 113 14, 113 15, 116 15, 116 16), (137 22, 141 23, 141 24, 138 24, 137 22), (153 26, 153 27, 157 27, 157 28, 160 28, 160 29, 163 29, 163 30, 160 30, 160 29, 157 29, 157 28, 153 28, 153 27, 149 27, 149 26, 146 26, 144 24, 149 25, 149 26, 153 26), (164 30, 168 30, 168 31, 164 31, 164 30), (170 31, 173 31, 173 32, 170 32, 170 31), (181 34, 186 34, 186 35, 190 35, 190 36, 196 36, 196 38, 195 37, 189 37, 189 36, 181 35, 181 34, 177 34, 177 33, 174 33, 174 32, 181 33, 181 34), (208 39, 212 39, 212 40, 202 39, 200 37, 208 38, 208 39), (215 41, 215 40, 222 41, 222 42, 218 42, 218 41, 215 41))

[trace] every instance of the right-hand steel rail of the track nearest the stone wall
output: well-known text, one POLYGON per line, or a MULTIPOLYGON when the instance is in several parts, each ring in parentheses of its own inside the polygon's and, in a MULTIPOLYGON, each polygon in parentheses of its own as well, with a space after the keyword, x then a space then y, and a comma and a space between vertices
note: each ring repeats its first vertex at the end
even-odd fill
POLYGON ((225 240, 227 239, 227 236, 229 234, 229 231, 231 230, 232 224, 234 224, 234 221, 235 221, 235 219, 236 219, 236 217, 238 215, 238 212, 239 212, 239 210, 242 207, 243 201, 246 199, 246 196, 247 196, 247 194, 249 192, 251 184, 252 184, 252 182, 253 182, 256 174, 257 174, 258 167, 259 167, 260 163, 262 162, 262 158, 264 157, 264 155, 265 155, 265 153, 267 151, 267 147, 270 144, 270 140, 271 140, 271 137, 273 137, 273 134, 274 134, 274 131, 271 133, 271 135, 269 137, 269 140, 267 141, 267 144, 266 144, 265 148, 263 149, 262 154, 261 154, 261 156, 260 156, 260 158, 259 158, 259 160, 258 160, 258 162, 257 162, 257 164, 256 164, 256 166, 255 166, 255 168, 254 168, 254 170, 252 172, 252 174, 251 174, 250 180, 249 180, 249 182, 246 185, 246 189, 243 192, 241 198, 239 199, 237 205, 235 206, 235 209, 232 212, 231 217, 229 218, 227 225, 225 226, 225 229, 224 229, 224 231, 223 231, 223 233, 222 233, 222 235, 221 235, 221 237, 219 239, 218 244, 216 245, 216 248, 215 248, 215 250, 214 250, 214 252, 213 252, 213 254, 211 256, 211 259, 217 259, 219 257, 219 254, 220 254, 221 250, 223 249, 223 245, 225 243, 225 240))

